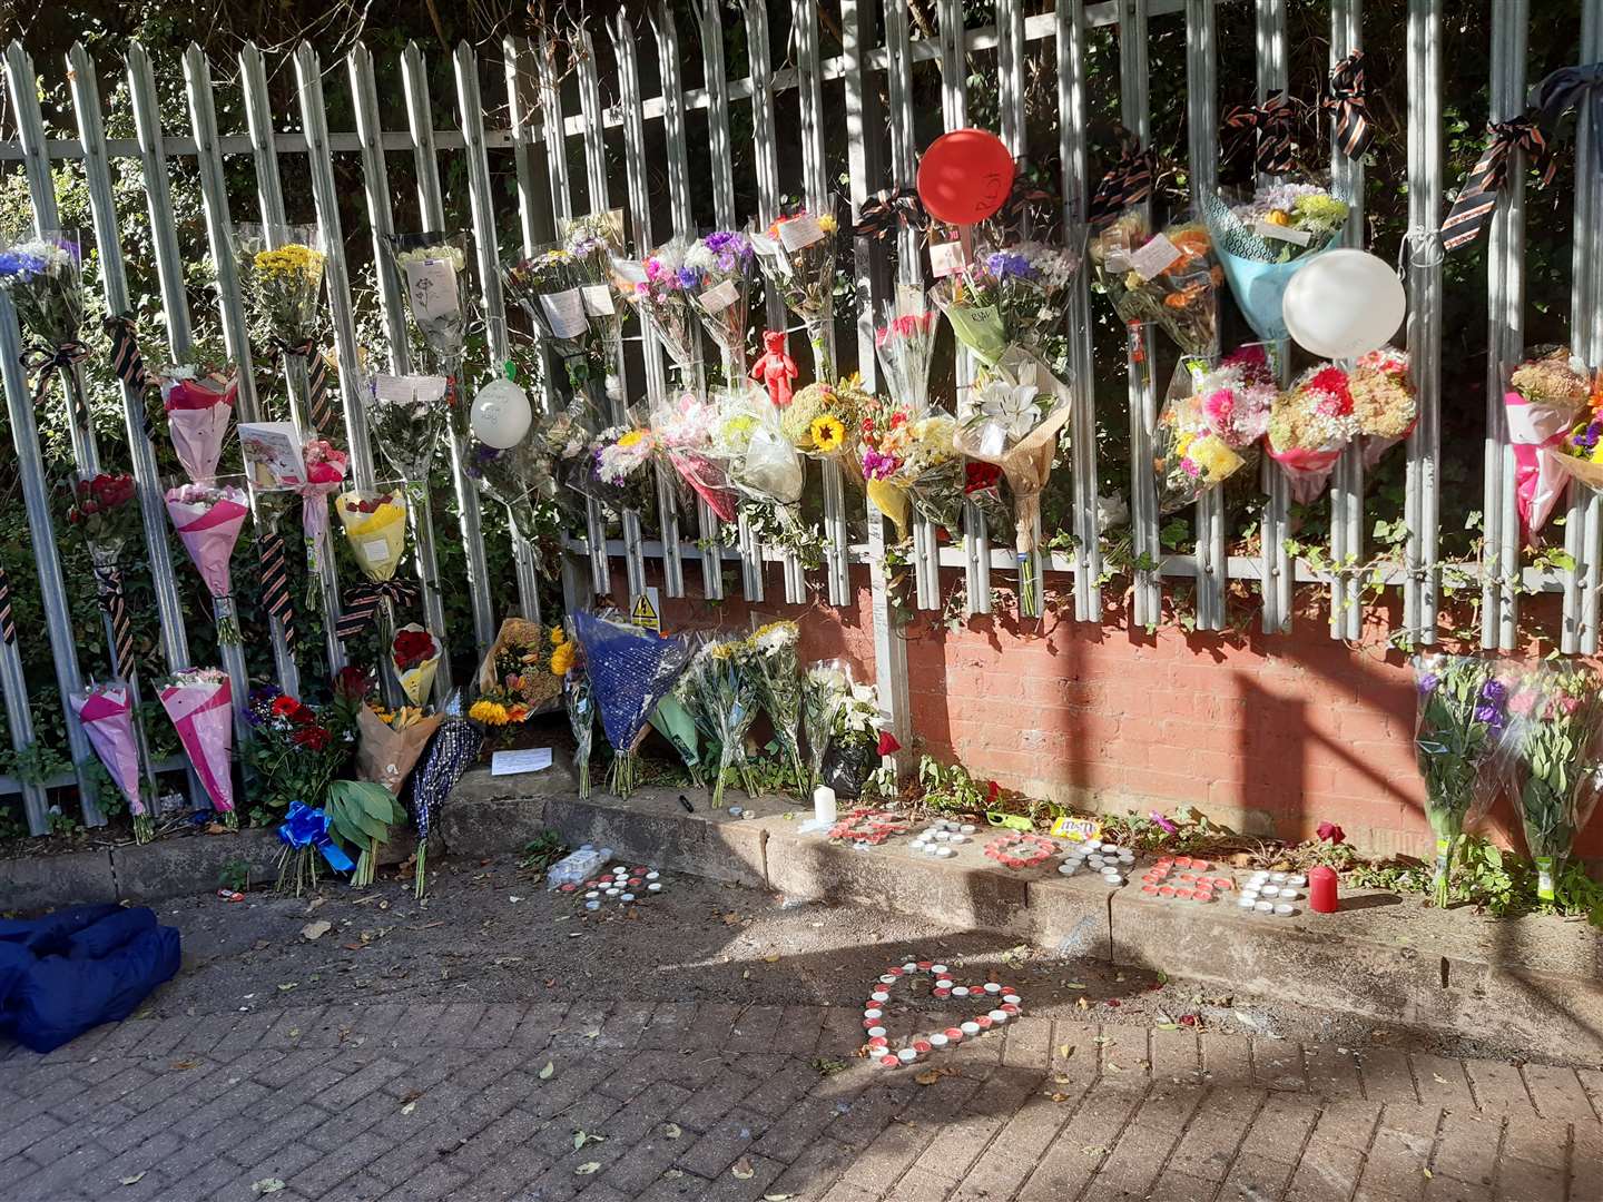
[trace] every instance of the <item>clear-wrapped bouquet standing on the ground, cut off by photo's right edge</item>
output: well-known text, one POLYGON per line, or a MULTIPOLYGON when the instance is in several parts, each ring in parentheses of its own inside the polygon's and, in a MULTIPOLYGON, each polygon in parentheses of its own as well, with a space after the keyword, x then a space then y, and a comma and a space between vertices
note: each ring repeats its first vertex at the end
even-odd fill
POLYGON ((1542 664, 1510 684, 1505 776, 1515 785, 1537 896, 1553 901, 1603 779, 1603 681, 1587 665, 1542 664))

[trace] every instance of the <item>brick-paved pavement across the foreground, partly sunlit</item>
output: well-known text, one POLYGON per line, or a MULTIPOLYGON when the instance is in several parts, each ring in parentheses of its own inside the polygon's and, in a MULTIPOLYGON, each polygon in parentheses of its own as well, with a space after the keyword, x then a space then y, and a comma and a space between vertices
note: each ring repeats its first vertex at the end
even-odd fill
POLYGON ((1603 1200, 1603 1072, 1026 1018, 920 1083, 853 1058, 858 1023, 649 1002, 135 1019, 0 1056, 0 1197, 1603 1200))

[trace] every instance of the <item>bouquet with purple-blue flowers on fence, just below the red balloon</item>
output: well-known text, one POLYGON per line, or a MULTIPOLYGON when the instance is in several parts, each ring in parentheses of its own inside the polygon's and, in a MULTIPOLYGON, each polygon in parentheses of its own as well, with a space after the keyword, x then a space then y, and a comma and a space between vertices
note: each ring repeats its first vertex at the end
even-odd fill
POLYGON ((962 271, 936 280, 930 295, 957 340, 987 367, 1008 346, 1036 351, 1053 325, 1080 269, 1079 252, 1021 242, 981 253, 962 271))

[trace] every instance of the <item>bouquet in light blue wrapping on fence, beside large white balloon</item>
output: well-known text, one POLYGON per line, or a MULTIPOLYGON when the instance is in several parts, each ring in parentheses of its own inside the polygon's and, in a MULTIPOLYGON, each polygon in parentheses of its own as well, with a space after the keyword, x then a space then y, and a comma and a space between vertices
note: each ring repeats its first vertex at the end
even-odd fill
POLYGON ((1286 285, 1330 248, 1351 207, 1314 184, 1263 184, 1236 204, 1207 192, 1202 212, 1247 324, 1270 341, 1290 337, 1281 316, 1286 285))

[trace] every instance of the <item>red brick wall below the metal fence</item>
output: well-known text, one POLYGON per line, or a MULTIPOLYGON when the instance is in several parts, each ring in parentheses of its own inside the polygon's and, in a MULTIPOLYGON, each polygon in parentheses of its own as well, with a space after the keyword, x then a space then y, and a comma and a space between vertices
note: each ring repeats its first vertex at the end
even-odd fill
MULTIPOLYGON (((686 564, 686 583, 699 582, 699 566, 686 564)), ((845 611, 737 598, 665 607, 678 628, 744 630, 793 617, 805 659, 843 655, 872 680, 866 574, 854 582, 858 604, 845 611)), ((769 596, 782 596, 773 571, 769 596)), ((1310 606, 1319 599, 1310 590, 1310 606)), ((1298 840, 1330 821, 1369 853, 1430 846, 1414 766, 1412 670, 1379 627, 1359 647, 1330 639, 1316 609, 1279 636, 1186 635, 1172 625, 1132 635, 1109 609, 1103 627, 1048 615, 1021 630, 999 612, 957 631, 920 615, 902 633, 915 753, 1092 809, 1189 805, 1246 833, 1298 840)), ((1520 845, 1507 801, 1488 829, 1520 845)), ((1603 819, 1581 851, 1603 854, 1603 819)))

